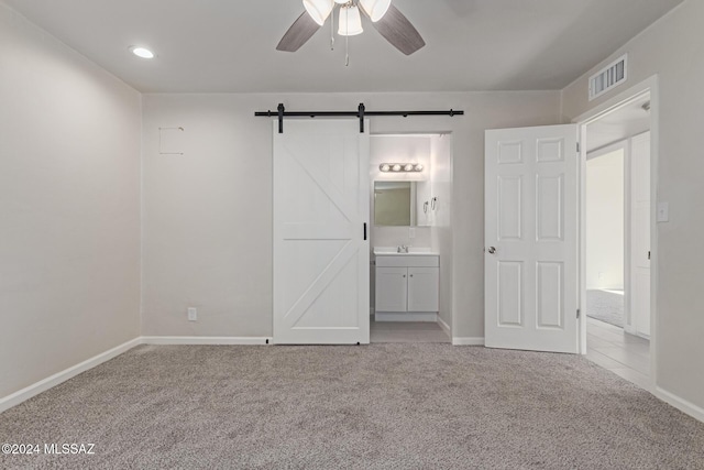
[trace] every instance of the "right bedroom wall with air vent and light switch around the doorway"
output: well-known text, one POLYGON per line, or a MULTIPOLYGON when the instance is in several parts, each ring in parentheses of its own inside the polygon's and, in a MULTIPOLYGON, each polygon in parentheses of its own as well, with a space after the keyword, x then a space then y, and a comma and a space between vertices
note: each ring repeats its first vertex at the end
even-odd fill
MULTIPOLYGON (((682 6, 620 47, 562 91, 562 113, 571 120, 653 75, 659 81, 657 199, 670 204, 670 221, 659 223, 656 330, 657 385, 704 408, 704 1, 682 6), (587 102, 591 73, 628 53, 628 85, 587 102)), ((654 117, 653 117, 654 118, 654 117)), ((656 196, 656 195, 653 195, 656 196)))

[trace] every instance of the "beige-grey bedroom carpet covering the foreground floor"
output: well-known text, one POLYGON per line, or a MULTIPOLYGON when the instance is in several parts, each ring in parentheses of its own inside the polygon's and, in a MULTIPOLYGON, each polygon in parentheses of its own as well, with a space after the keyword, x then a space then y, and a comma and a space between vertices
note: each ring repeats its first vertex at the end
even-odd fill
POLYGON ((0 415, 0 468, 704 469, 704 424, 578 356, 141 346, 0 415))

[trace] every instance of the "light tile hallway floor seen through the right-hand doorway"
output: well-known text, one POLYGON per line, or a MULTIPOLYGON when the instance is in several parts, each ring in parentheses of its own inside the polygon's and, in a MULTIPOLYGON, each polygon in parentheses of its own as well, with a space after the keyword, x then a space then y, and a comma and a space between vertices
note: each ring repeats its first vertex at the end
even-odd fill
POLYGON ((587 318, 586 359, 642 389, 650 389, 650 341, 647 339, 587 318))

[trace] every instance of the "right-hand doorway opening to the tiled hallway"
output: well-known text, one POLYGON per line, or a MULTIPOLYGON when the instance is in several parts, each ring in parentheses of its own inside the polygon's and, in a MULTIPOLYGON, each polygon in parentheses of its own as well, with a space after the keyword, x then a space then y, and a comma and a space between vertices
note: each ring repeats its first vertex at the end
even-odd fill
POLYGON ((583 352, 644 389, 652 383, 652 113, 648 88, 582 125, 583 352))

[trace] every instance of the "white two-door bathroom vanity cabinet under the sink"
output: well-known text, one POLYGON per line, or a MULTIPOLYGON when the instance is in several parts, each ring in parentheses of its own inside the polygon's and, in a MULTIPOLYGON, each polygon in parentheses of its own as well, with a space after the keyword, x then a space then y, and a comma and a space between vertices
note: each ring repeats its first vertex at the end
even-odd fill
POLYGON ((436 321, 440 256, 399 253, 376 256, 377 321, 436 321))

